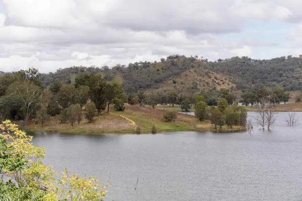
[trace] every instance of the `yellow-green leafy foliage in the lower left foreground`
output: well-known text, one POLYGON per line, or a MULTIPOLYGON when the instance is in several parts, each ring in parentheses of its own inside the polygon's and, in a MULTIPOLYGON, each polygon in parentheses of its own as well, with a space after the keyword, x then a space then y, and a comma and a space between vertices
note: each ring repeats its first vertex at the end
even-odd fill
POLYGON ((106 186, 96 178, 62 172, 59 180, 51 166, 41 162, 45 149, 31 143, 32 137, 5 121, 0 126, 0 200, 103 200, 106 186))

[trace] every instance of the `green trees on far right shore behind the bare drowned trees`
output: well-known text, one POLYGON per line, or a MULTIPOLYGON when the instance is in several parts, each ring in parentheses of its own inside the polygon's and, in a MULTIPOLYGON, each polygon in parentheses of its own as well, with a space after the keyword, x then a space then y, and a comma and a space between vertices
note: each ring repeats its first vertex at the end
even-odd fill
POLYGON ((244 105, 252 105, 258 104, 261 102, 261 99, 267 95, 272 95, 274 97, 274 102, 276 104, 280 104, 281 102, 288 102, 290 98, 290 93, 285 92, 283 88, 277 87, 270 89, 268 87, 263 87, 258 89, 256 92, 250 92, 246 91, 243 94, 241 94, 242 100, 241 103, 244 105))

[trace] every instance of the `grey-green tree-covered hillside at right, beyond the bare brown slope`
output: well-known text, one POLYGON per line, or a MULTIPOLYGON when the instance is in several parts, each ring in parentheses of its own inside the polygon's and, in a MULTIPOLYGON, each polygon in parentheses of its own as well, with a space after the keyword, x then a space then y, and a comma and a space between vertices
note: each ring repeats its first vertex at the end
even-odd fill
MULTIPOLYGON (((302 55, 301 55, 302 56, 302 55)), ((302 89, 302 57, 282 56, 270 60, 233 57, 207 62, 203 68, 229 75, 237 89, 257 90, 264 86, 302 89)))

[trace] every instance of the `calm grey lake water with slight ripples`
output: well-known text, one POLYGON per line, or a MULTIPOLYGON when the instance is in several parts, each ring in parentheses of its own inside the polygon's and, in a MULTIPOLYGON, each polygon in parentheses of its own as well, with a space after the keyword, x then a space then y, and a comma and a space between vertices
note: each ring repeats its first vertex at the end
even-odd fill
MULTIPOLYGON (((271 132, 35 134, 44 162, 112 185, 105 200, 302 200, 302 113, 271 132), (134 189, 138 177, 136 190, 134 189)), ((249 113, 255 115, 255 113, 249 113)))

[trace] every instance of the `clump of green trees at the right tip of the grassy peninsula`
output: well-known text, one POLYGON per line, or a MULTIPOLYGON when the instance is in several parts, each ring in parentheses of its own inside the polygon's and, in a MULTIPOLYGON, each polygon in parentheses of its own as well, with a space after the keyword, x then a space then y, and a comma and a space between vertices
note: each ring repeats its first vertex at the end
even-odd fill
POLYGON ((244 107, 234 104, 230 106, 228 100, 221 98, 217 107, 207 106, 204 102, 204 97, 196 97, 199 101, 195 105, 195 117, 200 121, 210 120, 215 129, 219 126, 227 125, 232 128, 233 126, 246 126, 247 111, 244 107))

